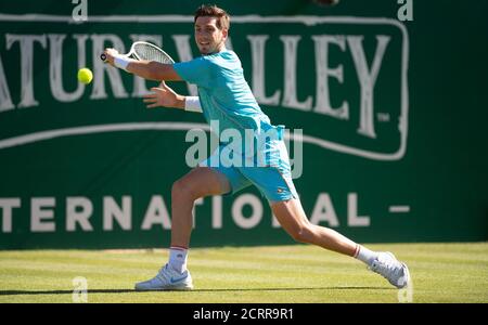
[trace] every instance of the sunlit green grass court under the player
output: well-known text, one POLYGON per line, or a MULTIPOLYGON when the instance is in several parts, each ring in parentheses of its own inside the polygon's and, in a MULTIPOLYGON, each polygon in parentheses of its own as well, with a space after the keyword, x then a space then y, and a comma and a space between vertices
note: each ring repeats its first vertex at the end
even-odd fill
MULTIPOLYGON (((488 243, 376 244, 406 261, 413 302, 488 302, 488 243)), ((313 246, 193 248, 195 290, 133 291, 167 250, 0 251, 0 302, 73 302, 73 278, 88 302, 398 302, 398 290, 351 258, 313 246)))

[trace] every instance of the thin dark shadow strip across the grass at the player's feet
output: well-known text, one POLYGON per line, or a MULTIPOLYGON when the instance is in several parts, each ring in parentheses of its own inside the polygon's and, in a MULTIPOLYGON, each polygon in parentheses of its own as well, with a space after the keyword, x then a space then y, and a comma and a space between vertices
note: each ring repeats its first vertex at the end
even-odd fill
MULTIPOLYGON (((320 287, 320 288, 248 288, 248 289, 194 289, 185 292, 241 292, 241 291, 305 291, 305 290, 395 290, 385 287, 320 287)), ((152 290, 150 292, 162 292, 164 290, 152 290)), ((169 290, 168 290, 169 291, 169 290)), ((87 294, 141 294, 147 291, 136 291, 134 289, 90 289, 87 294)), ((72 295, 73 290, 0 290, 0 296, 22 295, 72 295)))

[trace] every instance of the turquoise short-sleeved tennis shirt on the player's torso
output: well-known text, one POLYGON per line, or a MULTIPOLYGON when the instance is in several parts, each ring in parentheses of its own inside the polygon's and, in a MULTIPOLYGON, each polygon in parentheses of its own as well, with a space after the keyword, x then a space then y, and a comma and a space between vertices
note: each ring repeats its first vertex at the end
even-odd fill
POLYGON ((220 133, 233 128, 245 139, 246 129, 259 134, 272 128, 244 79, 241 61, 233 51, 176 63, 174 68, 183 80, 197 86, 205 119, 208 123, 218 120, 220 133))

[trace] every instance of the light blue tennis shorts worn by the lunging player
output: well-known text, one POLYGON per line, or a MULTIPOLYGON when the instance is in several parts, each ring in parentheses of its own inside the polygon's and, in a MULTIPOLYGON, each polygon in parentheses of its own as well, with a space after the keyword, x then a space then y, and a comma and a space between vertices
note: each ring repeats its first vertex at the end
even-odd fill
POLYGON ((222 164, 226 158, 221 153, 224 153, 227 148, 227 145, 221 145, 210 157, 198 164, 201 167, 209 167, 227 177, 231 185, 231 192, 227 194, 234 194, 254 184, 270 203, 298 198, 283 140, 272 140, 260 150, 260 154, 266 157, 265 164, 259 165, 262 167, 222 164))

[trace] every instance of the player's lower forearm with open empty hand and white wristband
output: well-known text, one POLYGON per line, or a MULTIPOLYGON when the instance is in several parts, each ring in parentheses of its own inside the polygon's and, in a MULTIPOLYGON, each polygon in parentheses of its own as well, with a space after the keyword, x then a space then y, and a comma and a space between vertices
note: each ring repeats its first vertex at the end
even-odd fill
POLYGON ((160 106, 202 113, 197 96, 180 95, 169 88, 165 81, 162 81, 159 87, 151 88, 151 93, 144 95, 143 100, 147 108, 160 106))

